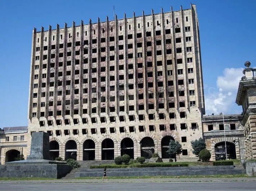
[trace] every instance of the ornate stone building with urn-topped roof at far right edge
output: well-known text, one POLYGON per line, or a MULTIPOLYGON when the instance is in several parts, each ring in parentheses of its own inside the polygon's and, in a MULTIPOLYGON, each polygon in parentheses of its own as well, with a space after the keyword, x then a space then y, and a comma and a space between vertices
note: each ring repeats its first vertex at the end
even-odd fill
POLYGON ((243 116, 241 124, 244 126, 246 159, 256 158, 256 68, 250 68, 246 61, 244 76, 239 82, 236 103, 242 105, 243 116))

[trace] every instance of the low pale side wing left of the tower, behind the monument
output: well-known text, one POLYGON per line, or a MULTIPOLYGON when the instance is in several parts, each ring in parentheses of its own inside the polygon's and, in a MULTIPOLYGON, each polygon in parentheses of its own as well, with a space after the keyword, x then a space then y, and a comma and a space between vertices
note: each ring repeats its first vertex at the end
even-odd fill
POLYGON ((20 154, 27 157, 27 126, 0 129, 0 164, 15 161, 20 154))

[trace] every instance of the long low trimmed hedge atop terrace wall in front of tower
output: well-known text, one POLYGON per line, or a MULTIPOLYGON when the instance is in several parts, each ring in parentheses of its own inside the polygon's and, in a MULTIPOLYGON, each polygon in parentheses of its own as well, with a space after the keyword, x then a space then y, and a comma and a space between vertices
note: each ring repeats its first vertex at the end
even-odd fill
POLYGON ((187 167, 188 163, 134 163, 130 165, 126 164, 121 164, 121 165, 116 165, 116 164, 101 164, 98 166, 90 166, 90 168, 143 168, 143 167, 187 167))

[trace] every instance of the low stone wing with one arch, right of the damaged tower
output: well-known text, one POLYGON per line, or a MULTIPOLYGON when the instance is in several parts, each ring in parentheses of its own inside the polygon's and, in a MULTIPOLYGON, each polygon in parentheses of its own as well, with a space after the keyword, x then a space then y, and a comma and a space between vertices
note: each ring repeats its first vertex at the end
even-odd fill
POLYGON ((211 160, 226 159, 226 153, 228 159, 244 159, 244 129, 239 121, 240 116, 224 115, 224 120, 223 115, 203 116, 203 138, 211 152, 211 160))

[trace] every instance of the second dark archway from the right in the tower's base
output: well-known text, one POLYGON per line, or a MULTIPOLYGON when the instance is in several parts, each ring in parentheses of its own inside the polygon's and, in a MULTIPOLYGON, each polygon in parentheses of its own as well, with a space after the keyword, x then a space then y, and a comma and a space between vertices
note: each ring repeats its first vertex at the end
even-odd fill
POLYGON ((141 156, 151 158, 155 152, 154 140, 151 137, 144 137, 140 142, 141 156))

